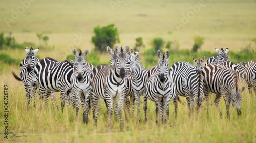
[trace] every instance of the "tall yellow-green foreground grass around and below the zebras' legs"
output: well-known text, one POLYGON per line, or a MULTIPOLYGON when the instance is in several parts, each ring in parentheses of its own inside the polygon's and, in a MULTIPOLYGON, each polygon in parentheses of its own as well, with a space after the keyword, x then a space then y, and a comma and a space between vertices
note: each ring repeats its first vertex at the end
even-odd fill
MULTIPOLYGON (((15 71, 17 73, 17 71, 15 71)), ((17 82, 10 77, 9 72, 3 73, 0 77, 0 92, 4 93, 4 84, 8 89, 9 107, 9 139, 4 139, 0 135, 0 142, 255 142, 255 119, 256 104, 255 95, 252 97, 245 90, 242 94, 242 116, 237 117, 236 111, 230 108, 230 121, 223 116, 220 119, 219 113, 214 105, 209 107, 207 112, 205 102, 198 115, 188 116, 187 106, 178 105, 178 118, 174 118, 174 106, 170 103, 169 124, 157 126, 155 123, 155 104, 148 101, 147 117, 148 122, 137 122, 135 118, 129 117, 129 122, 124 122, 125 128, 120 132, 119 121, 112 122, 113 132, 109 133, 106 120, 106 108, 101 102, 101 109, 98 119, 98 127, 93 125, 92 114, 89 115, 89 124, 82 123, 82 110, 79 111, 79 121, 75 122, 75 112, 71 108, 64 113, 49 107, 39 110, 31 108, 27 111, 27 101, 25 90, 21 82, 17 82), (12 133, 15 134, 13 136, 12 133), (12 138, 10 138, 13 136, 12 138)), ((245 85, 242 83, 242 85, 245 85)), ((240 85, 240 87, 242 86, 240 85)), ((59 93, 56 93, 57 103, 59 103, 59 93)), ((213 104, 214 96, 210 95, 210 103, 213 104)), ((184 102, 185 99, 181 98, 184 102)), ((3 96, 0 99, 0 128, 3 124, 3 96)), ((39 106, 38 97, 36 98, 39 106)), ((225 115, 225 104, 223 99, 220 102, 220 109, 225 115)), ((124 116, 123 116, 124 117, 124 116)), ((143 119, 143 112, 141 113, 143 119)))

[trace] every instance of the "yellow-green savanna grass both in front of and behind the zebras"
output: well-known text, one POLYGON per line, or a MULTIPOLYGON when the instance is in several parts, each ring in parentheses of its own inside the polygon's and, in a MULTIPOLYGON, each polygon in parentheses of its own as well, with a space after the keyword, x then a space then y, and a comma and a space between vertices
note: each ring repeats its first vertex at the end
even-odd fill
MULTIPOLYGON (((32 0, 31 0, 32 1, 32 0)), ((248 1, 205 1, 194 18, 189 19, 184 27, 177 30, 175 22, 182 23, 183 15, 191 12, 191 7, 200 1, 34 1, 24 12, 12 18, 13 10, 22 6, 19 1, 0 1, 0 32, 16 38, 17 42, 31 41, 39 44, 37 32, 49 36, 49 45, 55 50, 40 48, 37 53, 41 58, 51 56, 57 60, 65 60, 71 54, 73 46, 93 50, 91 37, 93 27, 114 23, 118 28, 121 42, 118 45, 135 45, 135 38, 142 37, 146 48, 150 48, 150 40, 162 37, 164 40, 178 40, 180 49, 191 49, 193 36, 205 37, 202 50, 214 52, 214 48, 229 47, 231 51, 239 51, 248 40, 256 37, 256 3, 248 1), (111 5, 116 2, 115 6, 111 5), (13 9, 13 10, 12 10, 13 9), (8 24, 5 19, 12 18, 8 24), (81 36, 79 43, 74 43, 76 35, 81 36), (64 52, 63 52, 64 51, 64 52), (70 51, 70 52, 69 52, 70 51)), ((28 45, 30 47, 30 45, 28 45)), ((25 47, 24 47, 25 48, 25 47)), ((24 50, 1 50, 12 58, 22 60, 24 50)), ((172 54, 172 53, 171 53, 172 54)), ((171 55, 172 56, 172 55, 171 55)), ((204 56, 204 55, 202 55, 204 56)), ((100 60, 109 60, 109 55, 101 55, 100 60)), ((207 59, 207 58, 206 58, 207 59)), ((151 64, 151 63, 148 63, 151 64)), ((2 65, 0 65, 2 66, 2 65)), ((130 117, 124 122, 130 130, 119 131, 119 121, 113 120, 113 132, 107 130, 106 108, 101 104, 98 127, 93 125, 92 115, 89 124, 82 123, 82 110, 79 121, 75 122, 72 108, 62 113, 50 106, 39 110, 31 108, 27 111, 27 100, 22 82, 17 82, 11 70, 19 73, 19 67, 6 66, 0 72, 0 93, 4 93, 4 85, 8 85, 8 139, 4 138, 4 97, 0 96, 0 142, 256 142, 256 96, 250 96, 246 90, 242 93, 242 116, 237 117, 230 107, 230 121, 220 119, 214 105, 207 111, 205 103, 198 115, 188 116, 187 106, 178 104, 178 118, 174 119, 173 103, 170 103, 170 123, 157 126, 155 123, 155 104, 148 101, 148 122, 137 122, 130 117)), ((246 86, 244 83, 242 85, 246 86)), ((4 95, 4 94, 2 94, 4 95)), ((38 95, 38 94, 37 94, 38 95)), ((60 106, 59 93, 56 93, 60 106)), ((213 104, 215 96, 211 95, 213 104)), ((182 98, 185 102, 185 99, 182 98)), ((39 105, 38 96, 36 98, 39 105)), ((51 103, 51 102, 50 102, 51 103)), ((225 115, 225 104, 221 99, 220 109, 225 115)), ((142 108, 141 108, 142 110, 142 108)), ((141 113, 143 117, 143 112, 141 113)), ((143 118, 142 118, 143 119, 143 118)))

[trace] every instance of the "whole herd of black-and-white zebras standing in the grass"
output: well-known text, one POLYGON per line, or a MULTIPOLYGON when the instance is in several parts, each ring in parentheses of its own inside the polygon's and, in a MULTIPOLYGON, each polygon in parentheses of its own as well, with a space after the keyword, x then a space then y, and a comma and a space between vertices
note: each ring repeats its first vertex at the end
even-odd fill
POLYGON ((184 96, 187 100, 189 115, 195 105, 195 110, 198 112, 204 100, 208 107, 210 92, 216 94, 215 105, 221 115, 219 101, 223 96, 226 115, 230 118, 231 102, 237 114, 242 113, 241 92, 245 87, 239 89, 238 81, 247 82, 250 93, 252 93, 252 88, 256 91, 256 62, 251 60, 234 64, 228 61, 228 48, 216 49, 218 56, 209 58, 204 67, 205 57, 198 60, 193 58, 196 66, 189 62, 179 61, 170 68, 170 52, 165 51, 161 54, 158 50, 158 65, 151 69, 146 69, 140 62, 140 51, 129 50, 129 46, 125 48, 115 46, 114 51, 107 47, 111 55, 111 65, 95 67, 84 60, 88 50, 82 52, 73 49, 75 60, 62 62, 49 57, 39 60, 35 56, 38 50, 39 48, 34 50, 32 47, 30 49, 26 47, 26 57, 20 63, 20 77, 12 72, 15 79, 24 83, 27 109, 30 108, 32 96, 35 107, 37 89, 39 89, 40 106, 42 106, 43 99, 45 99, 45 104, 48 104, 49 96, 53 102, 56 102, 54 92, 60 92, 62 112, 65 105, 69 110, 71 101, 73 108, 76 109, 77 119, 81 103, 83 122, 88 124, 88 113, 92 109, 94 124, 97 126, 100 99, 103 99, 108 109, 109 130, 112 126, 113 111, 120 120, 120 129, 123 130, 122 111, 124 111, 126 121, 129 120, 128 112, 134 116, 135 100, 138 121, 141 121, 140 96, 143 97, 145 122, 147 121, 147 99, 149 99, 156 104, 156 122, 158 122, 159 114, 161 123, 166 123, 169 119, 169 102, 173 100, 175 117, 177 117, 178 101, 182 103, 180 96, 184 96))

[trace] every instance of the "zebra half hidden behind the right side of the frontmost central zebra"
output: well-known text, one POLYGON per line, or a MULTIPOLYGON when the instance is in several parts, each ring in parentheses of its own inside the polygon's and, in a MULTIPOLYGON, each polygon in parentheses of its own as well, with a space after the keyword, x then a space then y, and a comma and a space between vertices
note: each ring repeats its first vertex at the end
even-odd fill
MULTIPOLYGON (((140 118, 140 96, 143 96, 144 103, 147 102, 147 99, 144 95, 144 89, 146 85, 146 81, 148 79, 148 69, 146 69, 141 62, 139 61, 139 52, 130 50, 129 57, 132 59, 131 61, 131 73, 132 73, 132 88, 134 91, 134 96, 131 97, 131 105, 132 105, 132 115, 134 115, 134 101, 137 101, 137 112, 138 112, 138 119, 141 121, 140 118), (135 97, 135 99, 134 99, 135 97)), ((144 104, 146 105, 146 104, 144 104)), ((146 106, 144 108, 144 114, 146 117, 146 106)), ((147 121, 147 118, 145 118, 147 121)))

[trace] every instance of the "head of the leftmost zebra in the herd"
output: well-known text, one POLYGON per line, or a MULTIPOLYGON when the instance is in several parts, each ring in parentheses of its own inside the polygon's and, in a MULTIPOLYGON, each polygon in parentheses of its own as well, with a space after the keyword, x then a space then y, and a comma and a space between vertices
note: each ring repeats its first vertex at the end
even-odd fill
POLYGON ((26 47, 25 48, 25 51, 27 52, 27 55, 26 55, 26 63, 28 64, 27 66, 27 72, 31 72, 32 69, 34 69, 34 66, 35 66, 35 53, 37 53, 39 50, 39 48, 37 49, 33 49, 33 47, 29 48, 26 47))

